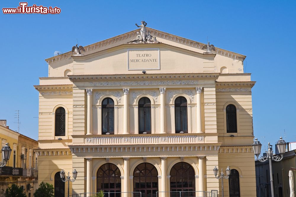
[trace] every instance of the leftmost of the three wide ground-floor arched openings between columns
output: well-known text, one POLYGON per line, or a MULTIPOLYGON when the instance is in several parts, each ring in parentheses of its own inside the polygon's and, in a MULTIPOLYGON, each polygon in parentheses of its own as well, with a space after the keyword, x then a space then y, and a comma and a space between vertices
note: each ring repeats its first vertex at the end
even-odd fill
POLYGON ((120 170, 113 163, 102 165, 96 173, 96 192, 103 190, 105 197, 120 197, 121 178, 120 170), (110 193, 108 196, 108 192, 110 193))

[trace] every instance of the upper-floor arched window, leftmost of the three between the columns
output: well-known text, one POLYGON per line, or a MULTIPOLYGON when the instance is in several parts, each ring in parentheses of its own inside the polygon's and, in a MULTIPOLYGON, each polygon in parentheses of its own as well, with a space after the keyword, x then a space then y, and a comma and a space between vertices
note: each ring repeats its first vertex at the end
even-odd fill
POLYGON ((111 98, 102 102, 102 134, 114 134, 114 101, 111 98))

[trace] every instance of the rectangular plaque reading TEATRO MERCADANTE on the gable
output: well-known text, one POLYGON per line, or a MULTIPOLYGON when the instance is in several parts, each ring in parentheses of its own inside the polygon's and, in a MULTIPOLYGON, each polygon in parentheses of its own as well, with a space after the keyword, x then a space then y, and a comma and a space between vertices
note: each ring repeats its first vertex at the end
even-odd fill
POLYGON ((128 70, 158 70, 159 56, 159 48, 128 49, 128 70))

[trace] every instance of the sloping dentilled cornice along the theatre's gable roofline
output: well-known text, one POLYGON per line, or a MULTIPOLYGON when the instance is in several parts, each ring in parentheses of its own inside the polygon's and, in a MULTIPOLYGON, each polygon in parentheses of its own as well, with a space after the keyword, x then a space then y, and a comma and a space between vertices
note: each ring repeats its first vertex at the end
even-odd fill
MULTIPOLYGON (((201 49, 202 46, 205 45, 204 43, 201 43, 201 42, 186 39, 186 38, 176 36, 176 35, 173 35, 173 34, 169 34, 169 33, 163 32, 163 31, 159 31, 159 30, 156 30, 156 29, 153 29, 153 28, 149 28, 149 27, 146 27, 146 28, 147 28, 147 30, 151 31, 151 34, 153 34, 154 36, 164 38, 164 39, 168 39, 168 40, 171 40, 171 41, 174 41, 174 42, 177 42, 177 43, 181 43, 181 44, 186 45, 186 46, 201 49)), ((119 43, 119 41, 123 41, 123 40, 126 40, 126 42, 128 42, 131 38, 136 36, 137 31, 139 31, 139 29, 129 31, 127 33, 124 33, 124 34, 121 34, 121 35, 118 35, 118 36, 114 36, 112 38, 105 39, 105 40, 96 42, 96 43, 91 44, 91 45, 86 45, 86 46, 84 46, 84 49, 86 50, 86 53, 88 53, 89 51, 92 51, 92 50, 96 50, 95 52, 101 51, 100 48, 102 48, 102 47, 105 47, 103 50, 108 49, 109 45, 112 45, 109 48, 114 47, 114 46, 116 46, 116 45, 114 45, 114 43, 116 43, 116 42, 119 43)), ((121 45, 121 44, 119 44, 119 45, 121 45)), ((137 44, 137 45, 139 45, 139 44, 137 44)), ((229 58, 236 59, 236 60, 240 60, 240 61, 244 61, 244 59, 246 58, 245 55, 242 55, 242 54, 239 54, 239 53, 234 53, 234 52, 224 50, 224 49, 221 49, 221 48, 218 48, 218 47, 215 47, 215 48, 216 48, 216 51, 214 53, 218 54, 218 55, 222 55, 222 56, 229 57, 229 58)), ((69 52, 66 52, 66 53, 51 57, 51 58, 47 58, 47 59, 45 59, 45 61, 48 64, 53 63, 53 62, 57 62, 57 61, 62 61, 62 60, 66 60, 67 58, 69 58, 73 54, 74 53, 72 51, 69 51, 69 52)))

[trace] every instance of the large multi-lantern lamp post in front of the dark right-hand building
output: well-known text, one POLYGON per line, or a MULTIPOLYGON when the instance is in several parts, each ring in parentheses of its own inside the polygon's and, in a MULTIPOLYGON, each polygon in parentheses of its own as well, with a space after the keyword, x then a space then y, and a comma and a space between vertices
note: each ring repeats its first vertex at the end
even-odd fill
POLYGON ((252 144, 253 150, 254 150, 254 154, 257 157, 258 161, 260 162, 264 162, 266 160, 269 160, 269 171, 270 171, 270 187, 271 187, 271 197, 274 197, 274 181, 272 179, 272 166, 271 166, 271 160, 273 161, 281 161, 284 158, 284 153, 286 150, 286 142, 285 140, 283 140, 282 137, 279 138, 279 141, 276 142, 276 147, 279 150, 279 153, 281 155, 281 157, 279 155, 273 155, 273 150, 271 150, 272 145, 270 145, 270 143, 268 142, 268 151, 265 151, 267 153, 267 156, 261 156, 260 159, 258 158, 261 152, 261 146, 262 144, 258 141, 258 139, 256 138, 254 143, 252 144))

